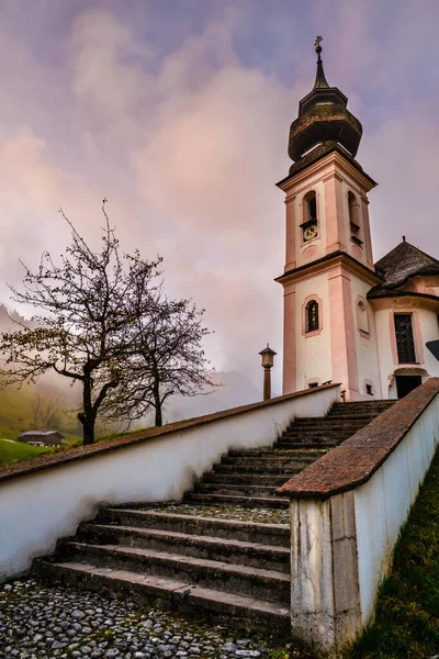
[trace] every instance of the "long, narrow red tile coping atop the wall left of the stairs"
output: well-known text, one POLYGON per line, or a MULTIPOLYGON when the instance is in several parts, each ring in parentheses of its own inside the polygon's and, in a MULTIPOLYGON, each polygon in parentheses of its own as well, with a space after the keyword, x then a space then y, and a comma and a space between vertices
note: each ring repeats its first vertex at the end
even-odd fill
POLYGON ((70 448, 58 454, 43 455, 38 458, 33 458, 23 462, 15 462, 10 467, 3 467, 0 469, 0 482, 20 476, 27 476, 29 473, 42 471, 43 469, 59 467, 67 465, 68 462, 85 460, 86 458, 91 458, 93 456, 101 456, 119 448, 142 444, 142 442, 147 442, 149 439, 166 437, 176 432, 206 425, 214 421, 228 418, 238 414, 251 412, 252 410, 269 407, 270 405, 283 403, 303 395, 312 395, 313 393, 316 393, 316 391, 322 391, 323 389, 333 389, 334 387, 339 387, 339 384, 323 384, 318 388, 315 387, 312 389, 304 389, 303 391, 296 391, 295 393, 288 393, 285 395, 272 398, 269 401, 261 401, 258 403, 251 403, 249 405, 240 405, 239 407, 230 407, 229 410, 223 410, 222 412, 214 412, 213 414, 206 414, 204 416, 195 416, 189 421, 178 421, 159 428, 155 427, 148 431, 139 431, 138 433, 132 433, 126 437, 117 437, 115 439, 100 442, 99 444, 92 444, 90 446, 80 446, 78 448, 70 448))

